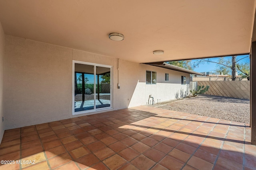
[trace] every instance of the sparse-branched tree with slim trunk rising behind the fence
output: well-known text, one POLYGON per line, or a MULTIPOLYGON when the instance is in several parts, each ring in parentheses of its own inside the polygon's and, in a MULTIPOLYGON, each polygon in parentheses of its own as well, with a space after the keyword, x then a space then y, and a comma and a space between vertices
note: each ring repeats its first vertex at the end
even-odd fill
MULTIPOLYGON (((249 56, 246 56, 249 57, 249 56)), ((245 59, 246 57, 243 57, 242 59, 245 59)), ((225 57, 226 58, 226 57, 225 57)), ((236 60, 236 56, 232 56, 231 60, 226 60, 224 57, 220 57, 218 62, 211 61, 210 59, 201 59, 201 61, 198 62, 210 62, 210 63, 216 63, 218 64, 216 72, 223 72, 223 74, 229 74, 231 72, 231 78, 232 80, 236 80, 236 71, 238 70, 244 76, 247 78, 247 80, 250 80, 250 66, 249 63, 242 63, 239 64, 238 61, 242 60, 236 60)))

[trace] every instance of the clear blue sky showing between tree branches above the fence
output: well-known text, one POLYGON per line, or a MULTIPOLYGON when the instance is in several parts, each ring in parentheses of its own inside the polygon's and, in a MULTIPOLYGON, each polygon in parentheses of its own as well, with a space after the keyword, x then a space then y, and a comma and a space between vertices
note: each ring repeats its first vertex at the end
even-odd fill
MULTIPOLYGON (((246 57, 249 55, 238 55, 236 57, 236 60, 242 59, 243 57, 246 57)), ((231 56, 230 57, 224 57, 226 60, 230 59, 231 60, 231 56)), ((211 58, 211 61, 214 62, 218 62, 219 57, 216 58, 211 58)), ((197 59, 198 60, 198 59, 197 59)), ((197 61, 197 60, 192 60, 193 61, 197 61)), ((245 59, 240 60, 238 63, 250 63, 250 59, 249 57, 246 57, 245 59)), ((215 63, 201 63, 197 68, 194 68, 193 70, 196 72, 208 72, 208 71, 214 71, 216 70, 216 65, 215 63)))

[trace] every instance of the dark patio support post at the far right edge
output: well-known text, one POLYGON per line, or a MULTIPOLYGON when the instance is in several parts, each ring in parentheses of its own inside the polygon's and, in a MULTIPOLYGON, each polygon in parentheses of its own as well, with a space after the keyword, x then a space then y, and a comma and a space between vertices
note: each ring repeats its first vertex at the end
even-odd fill
POLYGON ((250 91, 251 143, 252 145, 256 145, 256 41, 252 42, 250 57, 250 91))

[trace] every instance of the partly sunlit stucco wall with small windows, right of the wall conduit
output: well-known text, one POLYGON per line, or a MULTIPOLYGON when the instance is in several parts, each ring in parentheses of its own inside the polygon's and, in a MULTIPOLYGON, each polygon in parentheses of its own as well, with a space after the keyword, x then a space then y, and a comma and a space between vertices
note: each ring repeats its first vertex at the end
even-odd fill
POLYGON ((134 107, 146 105, 150 94, 155 102, 157 99, 163 102, 184 97, 189 92, 189 76, 174 70, 119 60, 120 89, 116 91, 120 95, 115 96, 117 100, 114 102, 117 106, 134 107), (156 84, 146 84, 146 70, 156 72, 156 84), (165 73, 169 74, 169 81, 165 81, 165 73), (186 85, 181 85, 181 76, 186 76, 186 85))

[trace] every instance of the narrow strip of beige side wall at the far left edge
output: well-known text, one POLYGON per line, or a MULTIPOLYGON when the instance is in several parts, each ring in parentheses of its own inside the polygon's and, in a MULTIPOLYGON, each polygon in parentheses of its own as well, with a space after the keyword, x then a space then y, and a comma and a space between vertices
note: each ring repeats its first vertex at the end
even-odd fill
POLYGON ((0 23, 0 143, 4 135, 4 30, 0 23))

